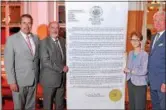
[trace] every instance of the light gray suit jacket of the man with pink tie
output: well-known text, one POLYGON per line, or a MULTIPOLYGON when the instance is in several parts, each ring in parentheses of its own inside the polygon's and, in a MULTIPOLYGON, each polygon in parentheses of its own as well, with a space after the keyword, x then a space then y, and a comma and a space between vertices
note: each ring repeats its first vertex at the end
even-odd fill
POLYGON ((35 43, 35 55, 22 36, 21 32, 9 36, 5 45, 4 63, 9 84, 31 86, 38 81, 39 76, 39 40, 32 34, 35 43))

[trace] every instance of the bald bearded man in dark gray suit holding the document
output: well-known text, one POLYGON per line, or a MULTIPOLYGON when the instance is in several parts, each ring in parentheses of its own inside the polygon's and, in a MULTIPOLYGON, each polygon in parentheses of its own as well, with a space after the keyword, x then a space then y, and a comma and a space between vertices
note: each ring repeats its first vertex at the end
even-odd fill
POLYGON ((44 109, 51 110, 55 100, 56 110, 64 109, 66 65, 65 40, 58 36, 59 25, 51 22, 49 36, 40 43, 41 74, 44 109))

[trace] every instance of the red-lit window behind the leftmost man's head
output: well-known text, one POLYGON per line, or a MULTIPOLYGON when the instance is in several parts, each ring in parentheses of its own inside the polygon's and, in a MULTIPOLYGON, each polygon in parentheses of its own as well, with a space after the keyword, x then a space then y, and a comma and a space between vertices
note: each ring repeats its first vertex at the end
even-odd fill
POLYGON ((13 34, 10 29, 19 28, 20 16, 22 14, 22 2, 1 2, 1 45, 4 46, 6 37, 13 34))

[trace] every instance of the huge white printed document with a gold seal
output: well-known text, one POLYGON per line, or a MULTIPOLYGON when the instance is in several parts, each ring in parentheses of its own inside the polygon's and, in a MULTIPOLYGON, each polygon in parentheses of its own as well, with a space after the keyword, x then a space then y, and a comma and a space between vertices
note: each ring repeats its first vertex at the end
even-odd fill
POLYGON ((128 2, 66 2, 67 109, 124 109, 128 2))

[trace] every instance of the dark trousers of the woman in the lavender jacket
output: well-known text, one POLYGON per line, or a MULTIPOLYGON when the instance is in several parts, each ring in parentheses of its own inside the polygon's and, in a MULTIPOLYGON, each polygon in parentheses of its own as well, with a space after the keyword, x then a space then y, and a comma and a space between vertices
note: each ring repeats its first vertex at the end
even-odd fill
POLYGON ((132 84, 131 80, 127 83, 130 110, 145 110, 147 86, 135 86, 132 84))

